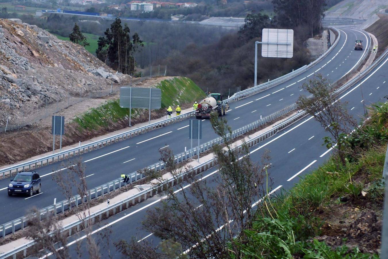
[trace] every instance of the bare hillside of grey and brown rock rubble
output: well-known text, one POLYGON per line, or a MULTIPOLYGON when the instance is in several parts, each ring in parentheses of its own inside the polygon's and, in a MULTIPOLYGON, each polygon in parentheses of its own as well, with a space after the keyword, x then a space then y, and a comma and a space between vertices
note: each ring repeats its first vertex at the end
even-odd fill
POLYGON ((0 127, 40 107, 103 92, 130 76, 108 68, 82 46, 20 19, 0 19, 0 127))

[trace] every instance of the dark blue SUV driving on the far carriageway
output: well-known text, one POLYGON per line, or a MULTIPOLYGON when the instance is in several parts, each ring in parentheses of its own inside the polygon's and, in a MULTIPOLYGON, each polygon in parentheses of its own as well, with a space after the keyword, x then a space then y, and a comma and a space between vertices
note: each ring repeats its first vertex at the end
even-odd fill
POLYGON ((26 193, 31 197, 34 191, 40 193, 41 187, 40 176, 36 171, 22 171, 18 172, 14 179, 11 180, 8 186, 8 195, 26 193))

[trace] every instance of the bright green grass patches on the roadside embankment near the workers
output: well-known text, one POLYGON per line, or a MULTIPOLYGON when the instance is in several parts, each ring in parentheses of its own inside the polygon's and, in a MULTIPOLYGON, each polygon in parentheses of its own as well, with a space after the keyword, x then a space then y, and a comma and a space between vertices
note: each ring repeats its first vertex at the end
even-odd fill
MULTIPOLYGON (((162 90, 161 110, 168 106, 184 105, 192 103, 204 97, 204 92, 192 80, 185 77, 174 77, 159 82, 155 87, 162 90)), ((129 109, 121 108, 119 100, 90 109, 90 111, 77 116, 74 122, 80 125, 81 129, 95 130, 99 127, 108 127, 111 123, 129 119, 129 109)), ((139 118, 146 110, 132 109, 131 118, 139 118)), ((146 111, 148 112, 148 111, 146 111)), ((147 116, 148 118, 148 116, 147 116)))

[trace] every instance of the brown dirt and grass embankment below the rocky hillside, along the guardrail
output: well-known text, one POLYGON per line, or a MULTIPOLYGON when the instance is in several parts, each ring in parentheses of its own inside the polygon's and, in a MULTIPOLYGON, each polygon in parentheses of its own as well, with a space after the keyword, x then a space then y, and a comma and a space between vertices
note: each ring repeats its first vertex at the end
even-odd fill
MULTIPOLYGON (((165 107, 168 105, 176 107, 179 104, 182 108, 189 108, 193 100, 204 95, 203 91, 188 78, 139 79, 132 86, 162 89, 162 108, 151 111, 151 120, 163 117, 166 114, 165 107), (172 99, 168 100, 167 96, 172 99)), ((62 147, 128 127, 127 110, 129 109, 120 108, 118 99, 119 94, 87 99, 57 113, 56 115, 66 118, 62 147)), ((131 118, 132 125, 147 122, 148 110, 132 109, 131 118)), ((55 141, 58 148, 59 138, 57 137, 55 141)), ((0 166, 16 163, 51 150, 50 118, 40 121, 39 126, 6 133, 0 132, 0 166)))

